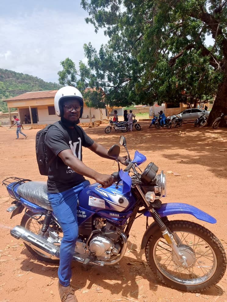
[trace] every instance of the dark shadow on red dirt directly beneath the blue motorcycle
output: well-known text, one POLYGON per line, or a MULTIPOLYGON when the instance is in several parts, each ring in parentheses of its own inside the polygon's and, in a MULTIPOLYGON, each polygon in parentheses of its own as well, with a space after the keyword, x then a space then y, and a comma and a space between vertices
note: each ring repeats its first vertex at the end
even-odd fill
MULTIPOLYGON (((144 250, 140 250, 139 245, 128 241, 128 247, 130 246, 133 246, 133 251, 126 251, 121 262, 114 266, 105 265, 104 267, 100 267, 89 265, 85 270, 83 265, 72 262, 71 284, 76 289, 75 294, 77 295, 77 292, 81 290, 91 290, 93 286, 94 294, 102 292, 103 289, 108 290, 111 295, 117 294, 122 297, 131 297, 132 299, 151 297, 153 295, 158 300, 156 294, 158 286, 163 286, 166 290, 169 289, 172 291, 173 289, 161 283, 157 276, 153 274, 146 260, 144 260, 144 250), (146 287, 144 283, 146 283, 146 280, 149 282, 150 293, 144 292, 146 287)), ((35 260, 26 248, 22 250, 22 254, 26 255, 27 258, 21 262, 21 270, 26 272, 30 270, 34 274, 46 276, 52 280, 58 278, 57 264, 35 260)), ((205 290, 203 294, 221 297, 223 290, 221 287, 215 285, 209 290, 205 290)))

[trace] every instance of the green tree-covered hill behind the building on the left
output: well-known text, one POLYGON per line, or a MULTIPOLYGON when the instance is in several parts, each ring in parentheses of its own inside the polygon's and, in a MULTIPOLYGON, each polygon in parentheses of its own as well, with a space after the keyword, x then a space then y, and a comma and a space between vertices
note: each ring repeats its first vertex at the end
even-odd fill
POLYGON ((35 76, 0 68, 0 111, 8 112, 3 100, 29 91, 58 90, 62 86, 35 76))

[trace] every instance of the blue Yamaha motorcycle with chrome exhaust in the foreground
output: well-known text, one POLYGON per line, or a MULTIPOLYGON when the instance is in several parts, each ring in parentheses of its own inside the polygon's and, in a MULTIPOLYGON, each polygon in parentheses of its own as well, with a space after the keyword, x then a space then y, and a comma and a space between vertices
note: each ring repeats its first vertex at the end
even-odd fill
MULTIPOLYGON (((128 153, 122 135, 120 144, 128 153)), ((108 152, 115 159, 119 153, 118 145, 108 152)), ((216 223, 216 219, 192 205, 162 203, 160 199, 166 196, 163 171, 157 174, 153 162, 141 171, 139 165, 146 157, 138 151, 133 160, 129 153, 128 158, 124 170, 118 163, 112 186, 104 189, 100 184, 90 184, 75 200, 79 236, 73 260, 115 265, 125 254, 134 220, 144 215, 147 223, 141 249, 145 249, 150 269, 163 283, 188 292, 202 292, 218 283, 226 269, 225 250, 218 238, 200 224, 168 217, 186 213, 209 223, 216 223), (154 220, 150 225, 148 217, 154 220)), ((11 218, 24 210, 20 225, 10 234, 22 240, 38 259, 57 262, 63 233, 47 198, 46 183, 11 177, 3 184, 14 198, 7 209, 11 218)))

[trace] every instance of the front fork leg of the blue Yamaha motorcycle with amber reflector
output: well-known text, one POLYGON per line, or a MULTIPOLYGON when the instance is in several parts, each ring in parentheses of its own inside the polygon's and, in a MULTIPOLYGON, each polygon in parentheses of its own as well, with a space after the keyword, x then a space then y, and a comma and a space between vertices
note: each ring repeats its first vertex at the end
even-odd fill
POLYGON ((177 242, 178 245, 181 244, 180 238, 177 236, 177 234, 171 234, 171 231, 168 231, 166 225, 162 221, 158 212, 155 209, 150 207, 150 202, 146 200, 144 193, 141 190, 141 188, 139 187, 139 185, 136 185, 135 187, 139 191, 139 194, 142 196, 143 201, 145 202, 146 206, 148 207, 148 210, 149 210, 151 216, 153 217, 154 221, 157 223, 158 227, 160 228, 160 231, 162 232, 162 236, 164 237, 165 241, 172 248, 173 253, 178 258, 178 261, 181 263, 182 267, 184 267, 184 268, 187 267, 188 264, 186 262, 186 257, 180 252, 180 250, 178 249, 177 245, 174 242, 174 239, 175 239, 175 241, 177 242))

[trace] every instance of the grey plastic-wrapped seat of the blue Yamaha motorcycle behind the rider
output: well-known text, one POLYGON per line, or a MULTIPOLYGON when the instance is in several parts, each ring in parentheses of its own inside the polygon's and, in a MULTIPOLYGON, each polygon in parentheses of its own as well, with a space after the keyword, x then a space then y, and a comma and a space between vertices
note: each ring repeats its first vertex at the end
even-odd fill
POLYGON ((17 188, 17 193, 35 205, 38 205, 46 210, 53 211, 51 203, 47 196, 46 181, 28 181, 21 184, 17 188))

